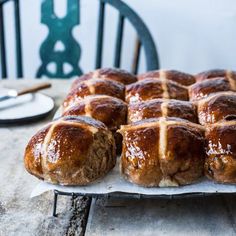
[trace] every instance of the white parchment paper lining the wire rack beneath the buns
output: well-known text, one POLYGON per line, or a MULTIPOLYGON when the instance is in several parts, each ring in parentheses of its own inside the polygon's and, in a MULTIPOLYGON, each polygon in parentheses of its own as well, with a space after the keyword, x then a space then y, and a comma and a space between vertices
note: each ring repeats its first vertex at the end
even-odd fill
POLYGON ((178 195, 183 193, 234 193, 236 185, 217 184, 203 178, 200 182, 180 187, 144 188, 129 183, 119 173, 119 163, 104 178, 83 187, 53 185, 41 181, 32 191, 31 197, 38 196, 50 190, 70 193, 107 194, 112 192, 136 193, 145 195, 178 195))

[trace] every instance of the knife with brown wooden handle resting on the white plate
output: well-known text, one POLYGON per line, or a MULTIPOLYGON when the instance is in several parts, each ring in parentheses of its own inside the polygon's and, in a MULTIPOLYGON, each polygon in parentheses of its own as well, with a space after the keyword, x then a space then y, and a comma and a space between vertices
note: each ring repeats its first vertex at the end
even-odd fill
POLYGON ((50 87, 51 87, 51 83, 44 82, 44 83, 33 85, 31 87, 21 89, 19 91, 15 89, 10 89, 8 90, 7 95, 0 96, 0 102, 5 101, 7 99, 11 99, 11 98, 16 98, 18 96, 21 96, 27 93, 35 93, 39 90, 50 88, 50 87))

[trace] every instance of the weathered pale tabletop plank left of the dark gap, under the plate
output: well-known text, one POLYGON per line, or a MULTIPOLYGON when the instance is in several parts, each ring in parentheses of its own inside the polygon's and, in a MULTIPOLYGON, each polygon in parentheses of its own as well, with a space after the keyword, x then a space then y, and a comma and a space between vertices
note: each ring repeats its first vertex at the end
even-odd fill
MULTIPOLYGON (((20 88, 39 81, 4 81, 1 87, 20 88)), ((52 80, 51 96, 56 108, 69 90, 71 81, 52 80)), ((36 108, 37 109, 37 108, 36 108)), ((38 180, 23 166, 24 148, 30 137, 52 119, 53 113, 39 122, 0 127, 0 235, 81 235, 87 199, 59 197, 58 217, 52 217, 53 194, 30 199, 38 180)))

